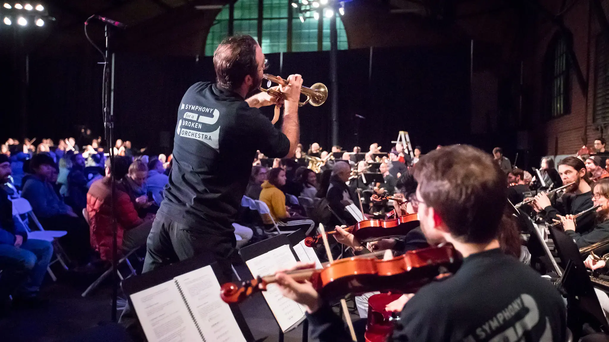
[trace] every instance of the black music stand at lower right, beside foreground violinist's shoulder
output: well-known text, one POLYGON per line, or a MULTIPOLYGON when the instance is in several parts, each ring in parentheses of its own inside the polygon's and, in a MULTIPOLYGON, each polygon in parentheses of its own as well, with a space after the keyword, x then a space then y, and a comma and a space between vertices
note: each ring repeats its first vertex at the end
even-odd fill
MULTIPOLYGON (((594 292, 590 276, 583 264, 582 254, 573 239, 565 232, 550 227, 550 235, 561 261, 566 264, 565 273, 560 280, 560 287, 565 290, 567 298, 567 326, 573 333, 574 341, 582 335, 582 316, 591 316, 596 323, 609 329, 605 313, 600 307, 599 299, 594 292), (585 314, 585 315, 583 315, 585 314)), ((587 320, 586 320, 587 321, 587 320)))

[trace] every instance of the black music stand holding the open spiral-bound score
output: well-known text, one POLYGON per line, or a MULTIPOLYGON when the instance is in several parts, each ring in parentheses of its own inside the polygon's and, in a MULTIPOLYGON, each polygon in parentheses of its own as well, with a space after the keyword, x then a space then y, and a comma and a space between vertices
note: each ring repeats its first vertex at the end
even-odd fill
MULTIPOLYGON (((139 276, 128 277, 121 282, 122 291, 127 295, 130 307, 134 308, 133 302, 131 301, 130 295, 138 293, 139 291, 146 290, 147 288, 154 287, 158 284, 171 281, 174 277, 180 276, 181 274, 188 273, 190 271, 198 270, 199 268, 211 265, 211 269, 216 274, 216 278, 220 284, 230 282, 218 264, 216 263, 212 254, 205 253, 198 256, 191 257, 190 259, 183 260, 181 262, 172 263, 165 267, 157 268, 156 270, 143 273, 139 276)), ((220 294, 218 294, 220 295, 220 294)), ((252 331, 245 323, 245 319, 239 310, 238 305, 229 304, 231 312, 233 312, 234 319, 239 325, 239 329, 243 333, 245 340, 248 342, 255 341, 252 335, 252 331)), ((135 312, 135 310, 133 310, 135 312)))

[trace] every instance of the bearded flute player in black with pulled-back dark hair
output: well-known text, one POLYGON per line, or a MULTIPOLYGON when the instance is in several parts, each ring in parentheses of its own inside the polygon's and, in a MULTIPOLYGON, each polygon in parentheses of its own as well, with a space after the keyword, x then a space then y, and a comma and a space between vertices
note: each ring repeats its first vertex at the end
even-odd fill
MULTIPOLYGON (((566 157, 558 164, 558 174, 563 185, 575 182, 565 189, 565 194, 556 200, 554 204, 543 192, 535 196, 533 208, 539 211, 547 223, 559 222, 559 215, 575 215, 586 209, 592 208, 592 188, 588 184, 586 166, 583 161, 576 157, 566 157)), ((577 220, 576 231, 583 233, 594 229, 594 216, 586 215, 577 220)))

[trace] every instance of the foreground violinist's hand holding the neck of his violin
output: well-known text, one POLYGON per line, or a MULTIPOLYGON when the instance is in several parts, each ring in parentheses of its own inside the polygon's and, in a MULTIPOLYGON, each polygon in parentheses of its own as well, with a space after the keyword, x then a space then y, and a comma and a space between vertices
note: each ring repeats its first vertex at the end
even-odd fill
POLYGON ((313 288, 311 282, 305 281, 304 283, 299 283, 285 273, 286 271, 304 270, 306 268, 315 268, 315 263, 299 262, 289 270, 277 271, 275 274, 276 284, 279 285, 281 294, 284 297, 305 305, 307 312, 314 313, 322 304, 319 293, 313 288))

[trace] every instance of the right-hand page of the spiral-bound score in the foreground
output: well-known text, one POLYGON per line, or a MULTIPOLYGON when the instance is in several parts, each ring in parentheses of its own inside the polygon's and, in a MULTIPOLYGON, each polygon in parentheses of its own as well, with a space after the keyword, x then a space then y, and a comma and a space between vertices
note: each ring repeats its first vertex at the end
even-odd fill
POLYGON ((208 342, 245 342, 233 312, 220 298, 220 283, 211 266, 174 278, 208 342))

